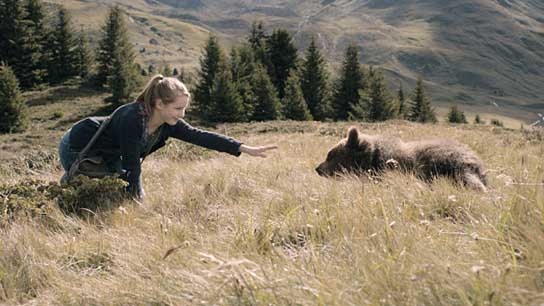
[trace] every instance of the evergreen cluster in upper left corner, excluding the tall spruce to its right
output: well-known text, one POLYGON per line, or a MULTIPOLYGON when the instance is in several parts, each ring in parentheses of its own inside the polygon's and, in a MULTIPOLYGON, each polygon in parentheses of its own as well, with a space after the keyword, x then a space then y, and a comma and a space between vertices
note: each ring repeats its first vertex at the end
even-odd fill
POLYGON ((60 6, 46 19, 39 0, 0 3, 0 61, 13 69, 23 90, 90 72, 87 38, 72 29, 66 9, 60 6))

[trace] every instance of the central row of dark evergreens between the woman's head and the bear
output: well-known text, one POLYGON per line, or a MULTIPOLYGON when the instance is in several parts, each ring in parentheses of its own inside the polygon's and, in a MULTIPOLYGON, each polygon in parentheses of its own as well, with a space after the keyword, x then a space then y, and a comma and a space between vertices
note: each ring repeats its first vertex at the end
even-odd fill
POLYGON ((208 39, 193 92, 193 113, 210 122, 393 118, 436 122, 421 78, 409 97, 402 85, 393 94, 382 70, 362 65, 357 47, 349 45, 338 78, 331 80, 315 38, 299 58, 287 30, 267 34, 262 22, 254 22, 246 41, 228 55, 216 37, 208 39))

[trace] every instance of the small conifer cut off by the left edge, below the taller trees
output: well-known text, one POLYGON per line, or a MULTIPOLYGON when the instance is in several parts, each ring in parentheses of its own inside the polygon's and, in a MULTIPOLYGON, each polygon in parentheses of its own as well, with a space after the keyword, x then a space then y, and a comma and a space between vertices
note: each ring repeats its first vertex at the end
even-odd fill
POLYGON ((25 103, 17 77, 9 66, 0 65, 0 133, 26 128, 25 103))

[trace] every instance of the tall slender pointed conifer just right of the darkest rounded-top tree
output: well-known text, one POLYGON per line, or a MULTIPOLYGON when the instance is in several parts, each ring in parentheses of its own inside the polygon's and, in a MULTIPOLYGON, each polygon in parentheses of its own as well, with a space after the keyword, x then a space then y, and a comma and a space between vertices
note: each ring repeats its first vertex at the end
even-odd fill
POLYGON ((329 73, 323 56, 317 48, 315 37, 306 50, 302 64, 300 83, 304 100, 315 120, 330 117, 329 73))

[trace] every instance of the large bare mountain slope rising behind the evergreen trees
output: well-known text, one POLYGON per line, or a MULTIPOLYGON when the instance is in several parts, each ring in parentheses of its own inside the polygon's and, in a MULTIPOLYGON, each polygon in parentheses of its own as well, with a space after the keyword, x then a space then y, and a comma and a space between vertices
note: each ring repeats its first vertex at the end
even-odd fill
MULTIPOLYGON (((94 5, 112 1, 99 3, 94 5)), ((459 103, 472 111, 526 121, 537 119, 535 113, 544 111, 544 3, 540 0, 116 3, 131 15, 145 15, 153 21, 153 25, 135 25, 141 27, 134 31, 140 36, 139 47, 149 45, 146 36, 157 36, 149 31, 151 26, 168 28, 157 37, 162 49, 151 46, 152 52, 142 52, 145 63, 174 61, 195 67, 209 32, 219 35, 228 47, 247 36, 251 22, 262 20, 270 30, 284 27, 292 31, 300 50, 315 35, 333 72, 347 44, 356 43, 361 61, 383 67, 393 87, 399 81, 412 87, 422 75, 441 106, 459 103), (176 33, 183 39, 176 40, 176 33), (184 52, 176 49, 180 44, 184 52)))

